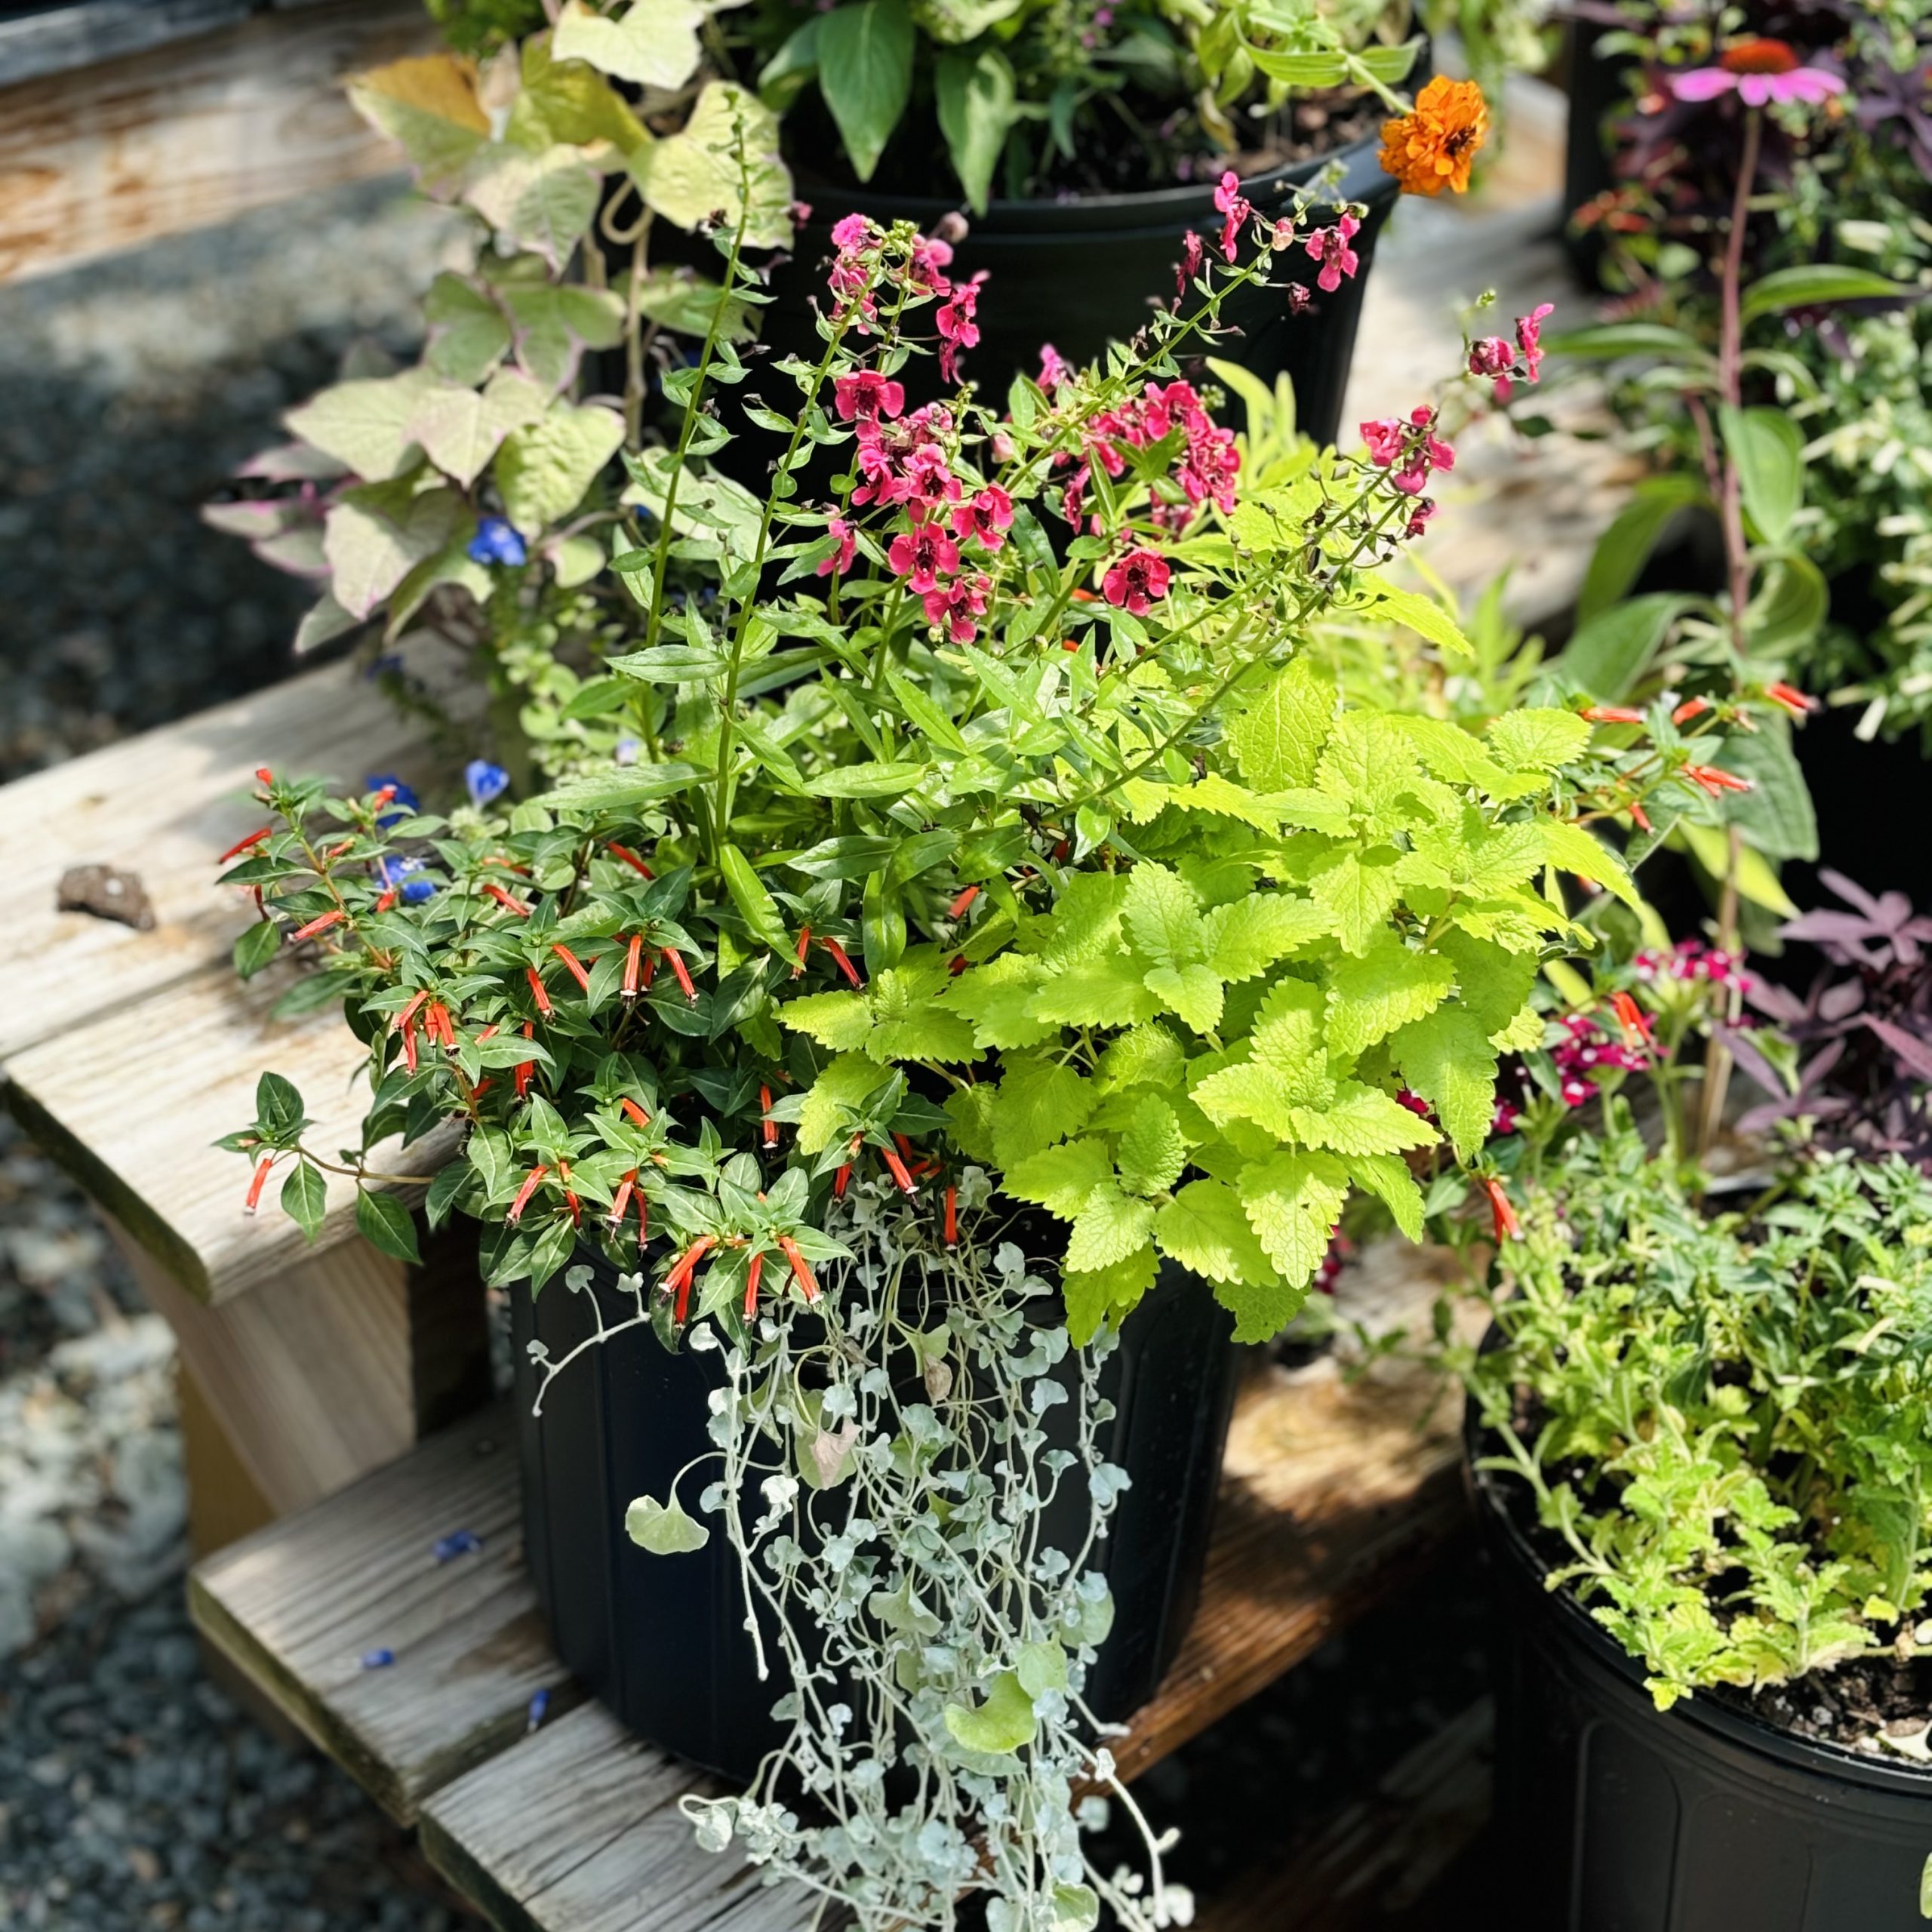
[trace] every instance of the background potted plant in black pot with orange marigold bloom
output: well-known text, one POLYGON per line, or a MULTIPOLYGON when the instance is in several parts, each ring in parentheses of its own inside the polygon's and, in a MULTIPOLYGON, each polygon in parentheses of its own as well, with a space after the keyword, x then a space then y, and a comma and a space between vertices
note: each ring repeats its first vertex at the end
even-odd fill
MULTIPOLYGON (((1406 8, 1358 0, 771 0, 674 19, 570 0, 554 21, 533 8, 450 21, 462 46, 495 50, 491 87, 512 85, 520 66, 527 91, 535 58, 558 75, 593 70, 626 97, 624 122, 601 129, 612 143, 611 213, 634 224, 636 189, 643 213, 661 216, 665 265, 705 269, 709 255, 690 238, 694 203, 655 139, 682 126, 694 85, 709 79, 746 102, 755 93, 759 114, 782 116, 775 143, 802 195, 796 253, 773 265, 777 301, 759 319, 777 354, 811 350, 831 224, 850 211, 885 226, 910 220, 951 259, 989 396, 1018 371, 1036 373, 1041 344, 1082 363, 1130 334, 1165 296, 1184 238, 1219 234, 1235 197, 1273 216, 1320 184, 1323 216, 1285 257, 1287 299, 1235 292, 1227 321, 1264 384, 1293 377, 1321 442, 1341 423, 1360 274, 1399 185, 1463 191, 1488 129, 1476 85, 1424 85, 1422 43, 1403 39, 1406 23, 1406 8), (1395 93, 1405 79, 1412 100, 1395 93), (1001 301, 978 321, 970 296, 981 278, 1001 301)), ((412 85, 410 112, 386 116, 406 143, 427 95, 412 85)))

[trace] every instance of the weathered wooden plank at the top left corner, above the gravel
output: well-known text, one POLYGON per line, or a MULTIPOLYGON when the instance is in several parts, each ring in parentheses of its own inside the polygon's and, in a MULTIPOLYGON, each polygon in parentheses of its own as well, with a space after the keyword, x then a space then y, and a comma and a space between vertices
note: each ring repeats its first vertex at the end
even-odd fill
POLYGON ((435 39, 415 0, 328 0, 0 87, 0 280, 390 172, 342 79, 435 39))

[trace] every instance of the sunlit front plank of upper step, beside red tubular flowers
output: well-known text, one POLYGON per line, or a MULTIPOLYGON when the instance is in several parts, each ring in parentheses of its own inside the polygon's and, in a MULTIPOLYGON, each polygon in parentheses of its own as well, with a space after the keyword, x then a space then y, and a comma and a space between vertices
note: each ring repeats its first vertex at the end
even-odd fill
MULTIPOLYGON (((270 1007, 286 985, 280 968, 242 985, 226 964, 203 966, 6 1063, 8 1105, 27 1132, 203 1302, 280 1281, 340 1242, 361 1244, 348 1177, 325 1177, 328 1211, 311 1248, 272 1200, 280 1180, 259 1215, 243 1213, 247 1163, 214 1146, 255 1119, 265 1068, 301 1090, 319 1153, 361 1138, 363 1049, 338 1012, 276 1020, 270 1007)), ((373 1167, 425 1179, 446 1151, 439 1136, 408 1151, 384 1142, 373 1167)))

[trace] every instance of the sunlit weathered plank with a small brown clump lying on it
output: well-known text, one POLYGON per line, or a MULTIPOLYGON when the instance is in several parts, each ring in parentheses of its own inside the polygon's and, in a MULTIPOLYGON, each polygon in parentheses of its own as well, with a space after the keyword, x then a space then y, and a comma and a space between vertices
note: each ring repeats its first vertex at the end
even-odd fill
MULTIPOLYGON (((458 715, 481 707, 460 653, 406 645, 404 665, 458 715)), ((346 784, 373 771, 429 782, 448 769, 427 750, 421 721, 336 663, 17 779, 0 790, 0 1063, 226 956, 249 912, 243 895, 214 883, 214 860, 261 823, 249 792, 265 763, 346 784), (60 875, 97 864, 139 873, 153 931, 54 908, 60 875)))

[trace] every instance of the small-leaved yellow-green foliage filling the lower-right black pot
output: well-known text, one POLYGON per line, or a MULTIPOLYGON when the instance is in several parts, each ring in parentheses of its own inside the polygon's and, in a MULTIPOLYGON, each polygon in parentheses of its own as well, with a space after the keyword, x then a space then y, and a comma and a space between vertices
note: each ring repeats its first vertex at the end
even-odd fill
MULTIPOLYGON (((1509 1244, 1501 1345, 1464 1360, 1567 1586, 1660 1706, 1884 1648, 1932 1584, 1932 1184, 1828 1155, 1700 1209, 1629 1109, 1509 1244)), ((1901 1648, 1903 1646, 1903 1648, 1901 1648)))

